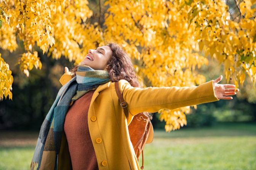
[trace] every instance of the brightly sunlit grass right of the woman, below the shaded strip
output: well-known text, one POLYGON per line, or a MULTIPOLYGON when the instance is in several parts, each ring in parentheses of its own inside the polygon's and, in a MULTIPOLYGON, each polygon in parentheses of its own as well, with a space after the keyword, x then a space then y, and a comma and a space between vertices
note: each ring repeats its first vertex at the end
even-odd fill
POLYGON ((146 170, 253 170, 255 160, 255 136, 156 138, 144 148, 146 170))

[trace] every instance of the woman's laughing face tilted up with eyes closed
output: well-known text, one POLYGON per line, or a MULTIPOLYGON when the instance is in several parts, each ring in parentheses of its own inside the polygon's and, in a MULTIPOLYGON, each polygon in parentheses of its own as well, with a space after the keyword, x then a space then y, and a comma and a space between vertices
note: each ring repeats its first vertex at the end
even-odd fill
POLYGON ((112 55, 112 50, 109 46, 98 47, 95 50, 89 50, 89 54, 80 63, 81 65, 89 66, 94 70, 107 71, 107 61, 112 55))

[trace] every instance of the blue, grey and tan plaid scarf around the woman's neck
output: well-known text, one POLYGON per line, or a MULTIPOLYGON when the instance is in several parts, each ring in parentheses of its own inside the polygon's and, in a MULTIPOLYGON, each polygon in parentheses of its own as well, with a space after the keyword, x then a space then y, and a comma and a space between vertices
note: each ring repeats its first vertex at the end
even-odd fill
POLYGON ((55 157, 55 160, 49 161, 54 161, 55 165, 53 167, 58 169, 58 154, 61 148, 63 126, 70 103, 109 81, 107 71, 94 70, 84 65, 78 66, 76 76, 59 90, 50 111, 43 121, 30 165, 32 170, 39 170, 42 158, 47 157, 49 153, 51 156, 48 157, 51 157, 51 159, 55 157))

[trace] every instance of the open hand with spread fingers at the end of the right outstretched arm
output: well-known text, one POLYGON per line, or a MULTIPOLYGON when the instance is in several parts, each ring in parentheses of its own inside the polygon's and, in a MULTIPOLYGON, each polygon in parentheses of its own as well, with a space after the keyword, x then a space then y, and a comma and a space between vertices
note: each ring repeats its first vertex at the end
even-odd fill
POLYGON ((237 94, 235 92, 239 91, 239 89, 235 90, 235 85, 232 84, 218 84, 221 80, 222 76, 213 80, 213 89, 216 97, 224 100, 233 99, 231 96, 237 94))

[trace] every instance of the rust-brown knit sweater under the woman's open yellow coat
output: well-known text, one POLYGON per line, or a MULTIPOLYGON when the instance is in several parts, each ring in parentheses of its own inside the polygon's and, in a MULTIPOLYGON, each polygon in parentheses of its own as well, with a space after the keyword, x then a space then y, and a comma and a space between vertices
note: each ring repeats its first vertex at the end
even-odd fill
POLYGON ((88 127, 88 110, 95 90, 89 91, 69 107, 64 123, 73 170, 98 170, 88 127))

